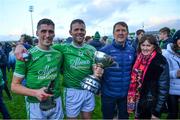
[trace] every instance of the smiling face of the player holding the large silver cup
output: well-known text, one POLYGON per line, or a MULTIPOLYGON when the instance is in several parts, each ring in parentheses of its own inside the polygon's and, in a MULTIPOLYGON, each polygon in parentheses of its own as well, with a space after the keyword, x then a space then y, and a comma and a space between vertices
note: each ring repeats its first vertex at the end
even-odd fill
POLYGON ((83 23, 73 23, 71 30, 69 31, 70 35, 73 37, 73 42, 76 45, 82 45, 86 35, 86 27, 83 23))

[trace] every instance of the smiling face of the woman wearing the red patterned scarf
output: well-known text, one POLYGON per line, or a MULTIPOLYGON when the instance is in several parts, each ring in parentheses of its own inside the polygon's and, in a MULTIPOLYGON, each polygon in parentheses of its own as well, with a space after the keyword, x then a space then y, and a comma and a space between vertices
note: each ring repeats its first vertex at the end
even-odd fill
POLYGON ((141 48, 141 53, 143 55, 150 55, 153 51, 154 51, 154 45, 149 43, 148 40, 145 40, 141 45, 140 45, 140 48, 141 48))

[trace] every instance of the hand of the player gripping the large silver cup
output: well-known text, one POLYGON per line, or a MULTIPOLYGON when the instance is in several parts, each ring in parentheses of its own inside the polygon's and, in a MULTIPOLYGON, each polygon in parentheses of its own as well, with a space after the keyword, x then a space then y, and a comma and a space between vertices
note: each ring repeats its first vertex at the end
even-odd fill
POLYGON ((96 76, 97 78, 101 78, 104 73, 104 69, 102 68, 102 65, 95 64, 93 66, 93 72, 94 72, 94 76, 96 76))

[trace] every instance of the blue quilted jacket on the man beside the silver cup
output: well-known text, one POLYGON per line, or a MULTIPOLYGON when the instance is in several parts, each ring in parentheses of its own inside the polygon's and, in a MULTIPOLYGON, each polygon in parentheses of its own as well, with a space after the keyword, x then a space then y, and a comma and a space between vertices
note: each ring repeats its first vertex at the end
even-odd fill
POLYGON ((135 50, 128 43, 125 46, 116 44, 107 45, 100 49, 110 55, 115 64, 104 69, 102 77, 102 95, 110 97, 127 96, 132 65, 135 60, 135 50))

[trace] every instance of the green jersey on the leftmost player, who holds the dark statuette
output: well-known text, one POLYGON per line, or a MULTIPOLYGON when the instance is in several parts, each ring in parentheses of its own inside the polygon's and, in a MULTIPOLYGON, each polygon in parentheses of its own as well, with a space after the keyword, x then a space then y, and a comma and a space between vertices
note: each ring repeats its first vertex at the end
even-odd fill
MULTIPOLYGON (((35 46, 29 50, 32 55, 27 62, 16 61, 14 75, 25 78, 26 87, 40 89, 47 87, 51 80, 55 80, 54 96, 60 96, 60 66, 62 54, 54 49, 42 50, 35 46)), ((28 96, 28 102, 39 102, 36 97, 28 96)))

